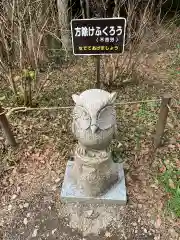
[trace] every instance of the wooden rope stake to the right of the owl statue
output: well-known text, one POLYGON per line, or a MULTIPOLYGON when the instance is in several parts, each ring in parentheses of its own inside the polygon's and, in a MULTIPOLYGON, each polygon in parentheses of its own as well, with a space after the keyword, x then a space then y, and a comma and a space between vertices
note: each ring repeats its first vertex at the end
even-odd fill
POLYGON ((164 135, 164 129, 167 123, 167 117, 169 113, 168 105, 170 105, 170 102, 171 102, 171 96, 169 94, 165 94, 162 97, 159 119, 156 126, 156 134, 154 137, 155 148, 158 148, 161 145, 162 137, 164 135))

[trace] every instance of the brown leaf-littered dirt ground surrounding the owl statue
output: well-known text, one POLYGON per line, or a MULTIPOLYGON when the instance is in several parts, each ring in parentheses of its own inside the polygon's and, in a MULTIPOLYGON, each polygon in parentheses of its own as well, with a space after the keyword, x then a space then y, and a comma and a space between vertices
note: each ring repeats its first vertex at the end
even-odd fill
MULTIPOLYGON (((168 90, 178 113, 179 77, 175 81, 167 71, 173 54, 153 54, 142 65, 152 81, 144 78, 138 85, 116 88, 117 102, 159 99, 168 90)), ((93 61, 86 58, 54 71, 39 98, 40 107, 73 105, 73 93, 93 87, 93 73, 93 61)), ((158 103, 117 107, 115 146, 124 161, 128 191, 124 207, 61 202, 65 167, 75 144, 69 109, 12 114, 9 120, 19 146, 13 150, 0 138, 0 239, 180 240, 180 221, 167 213, 168 195, 157 180, 163 158, 176 156, 179 163, 180 128, 170 114, 164 145, 154 153, 151 143, 158 112, 158 103)))

